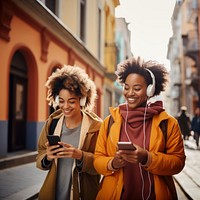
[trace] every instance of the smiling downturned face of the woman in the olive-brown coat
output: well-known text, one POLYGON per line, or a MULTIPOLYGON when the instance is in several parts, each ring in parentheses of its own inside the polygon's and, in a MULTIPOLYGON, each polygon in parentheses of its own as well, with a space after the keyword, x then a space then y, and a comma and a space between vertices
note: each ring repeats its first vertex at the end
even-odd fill
POLYGON ((67 118, 76 118, 81 114, 80 98, 66 89, 59 92, 59 107, 67 118))

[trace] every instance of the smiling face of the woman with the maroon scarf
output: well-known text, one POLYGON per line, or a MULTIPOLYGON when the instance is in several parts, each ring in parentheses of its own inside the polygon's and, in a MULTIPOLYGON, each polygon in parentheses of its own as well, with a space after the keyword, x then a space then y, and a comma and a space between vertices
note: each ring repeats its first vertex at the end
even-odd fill
POLYGON ((123 94, 130 108, 141 106, 147 100, 147 84, 143 76, 129 74, 124 83, 123 94))

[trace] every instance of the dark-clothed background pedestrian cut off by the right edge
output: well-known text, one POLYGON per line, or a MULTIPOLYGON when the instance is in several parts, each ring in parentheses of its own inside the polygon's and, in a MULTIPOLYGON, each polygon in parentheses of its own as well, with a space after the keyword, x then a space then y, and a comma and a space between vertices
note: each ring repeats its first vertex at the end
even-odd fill
POLYGON ((199 136, 200 136, 200 107, 195 110, 195 116, 192 118, 191 130, 194 131, 194 139, 196 141, 197 149, 199 148, 199 136))

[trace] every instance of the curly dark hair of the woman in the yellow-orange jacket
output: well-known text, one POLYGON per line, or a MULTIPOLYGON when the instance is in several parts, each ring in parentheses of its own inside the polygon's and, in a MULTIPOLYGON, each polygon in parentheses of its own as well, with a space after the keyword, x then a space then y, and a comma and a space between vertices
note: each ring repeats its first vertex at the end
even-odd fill
POLYGON ((144 61, 141 57, 131 57, 118 64, 115 74, 121 85, 124 85, 127 76, 132 73, 143 76, 147 85, 149 85, 152 84, 152 78, 146 69, 149 69, 155 76, 155 93, 153 96, 159 95, 165 90, 168 72, 165 66, 157 61, 144 61))

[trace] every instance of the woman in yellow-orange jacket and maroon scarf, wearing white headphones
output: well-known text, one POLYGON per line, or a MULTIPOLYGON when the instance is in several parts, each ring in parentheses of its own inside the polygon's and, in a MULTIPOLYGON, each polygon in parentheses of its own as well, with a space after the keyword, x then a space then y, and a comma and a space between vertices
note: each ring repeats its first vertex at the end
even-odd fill
POLYGON ((150 102, 164 91, 167 71, 135 57, 119 64, 116 74, 126 103, 110 108, 112 124, 108 116, 101 125, 94 167, 104 176, 97 199, 177 199, 172 175, 185 165, 181 131, 161 101, 150 102))

